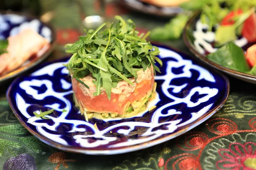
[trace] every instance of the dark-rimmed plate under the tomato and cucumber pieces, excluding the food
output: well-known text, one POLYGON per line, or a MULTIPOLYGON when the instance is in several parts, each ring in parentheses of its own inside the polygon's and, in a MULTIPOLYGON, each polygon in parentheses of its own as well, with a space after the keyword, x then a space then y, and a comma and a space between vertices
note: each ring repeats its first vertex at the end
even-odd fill
MULTIPOLYGON (((189 50, 195 54, 196 57, 201 59, 206 64, 212 66, 213 68, 223 71, 224 73, 241 79, 245 82, 256 84, 256 76, 223 67, 222 65, 219 65, 216 62, 206 58, 207 54, 213 53, 218 49, 213 47, 215 28, 213 28, 212 31, 207 31, 207 28, 208 26, 206 24, 202 24, 200 21, 200 12, 195 13, 191 17, 183 32, 183 40, 189 47, 189 50)), ((253 45, 248 43, 244 37, 239 37, 234 42, 244 50, 247 50, 247 48, 253 45)))

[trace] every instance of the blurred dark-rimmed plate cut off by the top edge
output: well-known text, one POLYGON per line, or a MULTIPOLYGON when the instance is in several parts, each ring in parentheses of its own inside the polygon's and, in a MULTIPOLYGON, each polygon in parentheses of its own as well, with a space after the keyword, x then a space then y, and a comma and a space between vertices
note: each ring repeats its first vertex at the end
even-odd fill
POLYGON ((158 7, 150 5, 148 3, 143 3, 140 0, 120 0, 119 3, 134 11, 139 11, 144 14, 151 14, 160 17, 173 17, 177 14, 189 13, 189 11, 185 11, 180 7, 158 7))

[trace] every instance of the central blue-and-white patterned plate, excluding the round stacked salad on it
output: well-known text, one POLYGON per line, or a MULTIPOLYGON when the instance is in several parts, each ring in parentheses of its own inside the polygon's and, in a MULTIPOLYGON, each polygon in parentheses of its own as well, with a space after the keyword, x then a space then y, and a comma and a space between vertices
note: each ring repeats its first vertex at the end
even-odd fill
POLYGON ((118 154, 165 142, 218 111, 227 100, 229 81, 186 54, 163 46, 159 49, 163 67, 155 77, 158 95, 153 105, 157 108, 152 111, 127 119, 86 122, 74 106, 70 76, 62 65, 67 58, 17 78, 7 91, 9 105, 30 133, 60 150, 118 154), (51 108, 55 111, 45 116, 49 119, 33 114, 51 108))

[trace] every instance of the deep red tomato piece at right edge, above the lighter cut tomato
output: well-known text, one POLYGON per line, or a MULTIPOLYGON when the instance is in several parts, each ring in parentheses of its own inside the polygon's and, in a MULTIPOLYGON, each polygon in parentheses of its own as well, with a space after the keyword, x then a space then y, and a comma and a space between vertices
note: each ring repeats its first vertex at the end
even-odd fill
POLYGON ((244 22, 244 28, 242 35, 248 40, 248 42, 256 42, 256 14, 253 13, 244 22))

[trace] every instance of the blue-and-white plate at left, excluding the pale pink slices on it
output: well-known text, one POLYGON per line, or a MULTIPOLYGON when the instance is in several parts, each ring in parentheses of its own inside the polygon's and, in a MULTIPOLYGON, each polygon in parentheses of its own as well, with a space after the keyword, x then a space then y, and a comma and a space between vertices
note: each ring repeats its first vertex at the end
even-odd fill
POLYGON ((18 74, 32 68, 37 65, 39 62, 43 61, 53 50, 53 44, 55 42, 55 33, 51 26, 46 23, 41 22, 39 19, 31 16, 25 16, 22 14, 14 13, 0 13, 0 39, 7 39, 7 37, 18 34, 21 30, 25 28, 32 28, 45 37, 51 46, 47 51, 44 51, 43 54, 38 55, 37 57, 32 57, 26 62, 23 63, 19 68, 9 72, 5 75, 0 75, 0 83, 16 77, 18 74))

